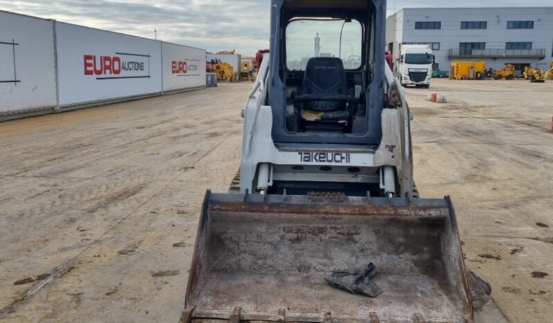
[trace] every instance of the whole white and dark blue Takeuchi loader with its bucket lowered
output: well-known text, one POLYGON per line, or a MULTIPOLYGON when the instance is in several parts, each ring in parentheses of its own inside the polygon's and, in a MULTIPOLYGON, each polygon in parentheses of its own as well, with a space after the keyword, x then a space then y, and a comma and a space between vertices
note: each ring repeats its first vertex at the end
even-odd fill
POLYGON ((207 192, 181 322, 473 322, 453 205, 416 193, 385 18, 385 0, 272 0, 240 193, 207 192), (376 297, 325 281, 369 264, 376 297))

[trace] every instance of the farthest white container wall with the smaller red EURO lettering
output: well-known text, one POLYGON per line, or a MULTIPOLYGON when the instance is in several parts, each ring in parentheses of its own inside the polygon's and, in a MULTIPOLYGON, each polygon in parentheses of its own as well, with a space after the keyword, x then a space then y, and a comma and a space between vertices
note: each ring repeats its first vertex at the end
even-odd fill
POLYGON ((164 91, 206 86, 206 52, 204 49, 166 42, 163 42, 161 46, 164 91))

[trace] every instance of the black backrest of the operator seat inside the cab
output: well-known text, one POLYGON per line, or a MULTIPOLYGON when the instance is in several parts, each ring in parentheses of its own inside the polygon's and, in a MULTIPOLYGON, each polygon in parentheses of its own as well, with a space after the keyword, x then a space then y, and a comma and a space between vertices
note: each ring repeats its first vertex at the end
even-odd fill
MULTIPOLYGON (((310 58, 307 62, 301 94, 347 94, 346 70, 340 58, 310 58)), ((304 107, 313 111, 344 110, 346 103, 310 101, 304 107)))

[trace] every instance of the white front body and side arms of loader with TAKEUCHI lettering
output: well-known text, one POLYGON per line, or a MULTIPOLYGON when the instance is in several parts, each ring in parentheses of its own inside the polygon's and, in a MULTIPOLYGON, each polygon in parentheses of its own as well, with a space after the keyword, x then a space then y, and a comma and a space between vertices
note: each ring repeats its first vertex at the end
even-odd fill
MULTIPOLYGON (((395 89, 401 105, 382 112, 383 138, 380 146, 289 144, 275 145, 272 109, 265 105, 269 74, 265 54, 244 117, 240 192, 267 193, 276 181, 373 183, 388 196, 412 195, 410 112, 399 80, 386 67, 385 91, 395 89)), ((316 184, 315 184, 316 186, 316 184)))

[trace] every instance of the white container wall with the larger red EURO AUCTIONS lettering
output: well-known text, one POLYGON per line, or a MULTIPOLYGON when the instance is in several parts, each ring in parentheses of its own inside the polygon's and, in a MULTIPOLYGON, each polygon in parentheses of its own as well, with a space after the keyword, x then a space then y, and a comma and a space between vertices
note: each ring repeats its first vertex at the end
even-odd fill
POLYGON ((60 105, 161 92, 161 42, 56 22, 60 105))

